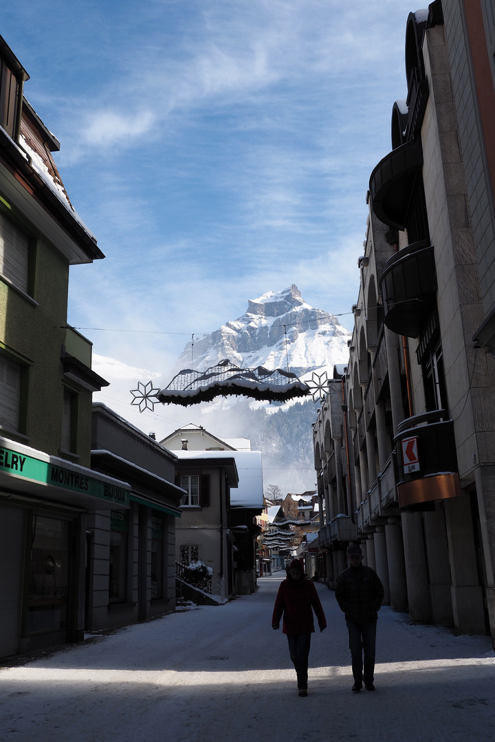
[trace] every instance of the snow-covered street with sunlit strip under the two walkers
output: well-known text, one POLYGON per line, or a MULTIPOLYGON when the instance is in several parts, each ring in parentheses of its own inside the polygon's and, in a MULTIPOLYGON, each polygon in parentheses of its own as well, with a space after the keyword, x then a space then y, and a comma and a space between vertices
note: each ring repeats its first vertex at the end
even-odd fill
POLYGON ((270 619, 281 580, 251 596, 131 626, 0 671, 1 742, 495 740, 488 637, 411 626, 382 608, 376 693, 351 693, 344 617, 317 585, 329 628, 313 635, 299 698, 270 619))

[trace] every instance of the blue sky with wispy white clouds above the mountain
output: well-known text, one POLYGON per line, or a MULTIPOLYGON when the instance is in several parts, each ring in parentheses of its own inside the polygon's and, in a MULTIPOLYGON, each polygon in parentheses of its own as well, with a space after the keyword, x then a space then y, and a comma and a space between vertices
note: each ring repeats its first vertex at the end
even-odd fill
MULTIPOLYGON (((68 320, 137 331, 85 329, 94 352, 166 374, 191 333, 291 283, 312 306, 350 311, 370 172, 406 93, 410 10, 2 4, 0 33, 30 73, 25 95, 59 138, 62 180, 107 256, 71 269, 68 320)), ((341 321, 350 328, 352 315, 341 321)))

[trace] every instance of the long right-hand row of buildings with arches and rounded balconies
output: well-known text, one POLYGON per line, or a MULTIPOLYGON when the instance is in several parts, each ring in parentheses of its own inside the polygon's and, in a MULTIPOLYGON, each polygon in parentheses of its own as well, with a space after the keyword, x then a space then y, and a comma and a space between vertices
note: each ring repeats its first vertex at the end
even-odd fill
POLYGON ((407 19, 350 361, 313 435, 333 579, 358 540, 394 609, 495 640, 491 13, 437 0, 407 19))

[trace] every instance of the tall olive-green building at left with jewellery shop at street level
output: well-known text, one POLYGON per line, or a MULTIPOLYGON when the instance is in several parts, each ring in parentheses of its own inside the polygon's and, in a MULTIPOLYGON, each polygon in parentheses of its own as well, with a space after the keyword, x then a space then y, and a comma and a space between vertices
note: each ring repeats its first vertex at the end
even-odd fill
POLYGON ((104 257, 73 210, 59 142, 0 38, 0 656, 84 636, 88 512, 128 507, 90 468, 91 343, 67 324, 69 266, 104 257))

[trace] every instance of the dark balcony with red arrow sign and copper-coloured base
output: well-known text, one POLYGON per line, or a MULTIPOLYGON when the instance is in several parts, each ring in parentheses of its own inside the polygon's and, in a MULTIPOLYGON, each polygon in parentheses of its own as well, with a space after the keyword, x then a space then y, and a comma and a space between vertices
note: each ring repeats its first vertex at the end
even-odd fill
POLYGON ((401 510, 433 510, 435 502, 461 495, 453 421, 443 417, 445 410, 435 410, 399 425, 394 443, 401 510))

